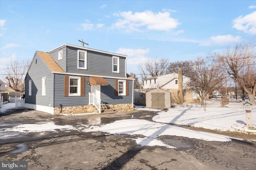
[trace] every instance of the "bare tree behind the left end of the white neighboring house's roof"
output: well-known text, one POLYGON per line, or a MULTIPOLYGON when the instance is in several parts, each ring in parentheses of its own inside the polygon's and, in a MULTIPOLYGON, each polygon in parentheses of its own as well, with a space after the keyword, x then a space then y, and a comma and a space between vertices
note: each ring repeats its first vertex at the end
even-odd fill
POLYGON ((161 76, 166 73, 167 67, 168 59, 146 61, 144 64, 139 65, 140 76, 142 80, 148 78, 148 76, 161 76))

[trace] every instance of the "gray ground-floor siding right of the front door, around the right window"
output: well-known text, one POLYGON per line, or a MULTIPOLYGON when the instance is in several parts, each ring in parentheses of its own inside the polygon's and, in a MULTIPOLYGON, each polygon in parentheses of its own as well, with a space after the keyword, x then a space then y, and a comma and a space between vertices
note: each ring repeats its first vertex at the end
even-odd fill
POLYGON ((115 80, 111 78, 105 78, 108 82, 108 86, 101 86, 100 98, 102 103, 105 104, 130 104, 132 103, 132 80, 129 80, 129 96, 115 96, 115 80))

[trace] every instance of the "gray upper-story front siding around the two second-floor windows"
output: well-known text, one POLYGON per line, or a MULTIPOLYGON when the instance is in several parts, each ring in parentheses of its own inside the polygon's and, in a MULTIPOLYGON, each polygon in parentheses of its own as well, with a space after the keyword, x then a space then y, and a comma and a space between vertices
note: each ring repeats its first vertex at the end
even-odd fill
POLYGON ((77 50, 67 47, 67 72, 125 77, 125 57, 119 57, 119 73, 112 72, 112 55, 87 51, 87 70, 77 68, 77 50))

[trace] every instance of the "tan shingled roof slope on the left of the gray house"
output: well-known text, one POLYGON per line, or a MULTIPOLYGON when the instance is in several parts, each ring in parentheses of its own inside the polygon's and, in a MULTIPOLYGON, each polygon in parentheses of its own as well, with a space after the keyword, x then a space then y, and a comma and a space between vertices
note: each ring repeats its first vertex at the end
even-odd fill
POLYGON ((64 70, 56 63, 56 61, 54 61, 49 53, 42 51, 36 51, 36 53, 38 53, 38 55, 42 58, 44 63, 46 63, 52 72, 64 72, 64 70))

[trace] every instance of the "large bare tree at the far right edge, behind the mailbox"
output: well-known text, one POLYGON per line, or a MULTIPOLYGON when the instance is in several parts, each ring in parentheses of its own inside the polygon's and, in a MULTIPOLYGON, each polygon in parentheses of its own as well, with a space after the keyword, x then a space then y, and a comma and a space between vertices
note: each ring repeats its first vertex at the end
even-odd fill
MULTIPOLYGON (((255 52, 250 54, 255 56, 255 52)), ((240 45, 234 49, 227 49, 222 56, 222 62, 228 68, 228 74, 236 79, 242 89, 248 94, 250 102, 255 104, 254 95, 256 93, 256 59, 250 59, 247 51, 240 45)))

